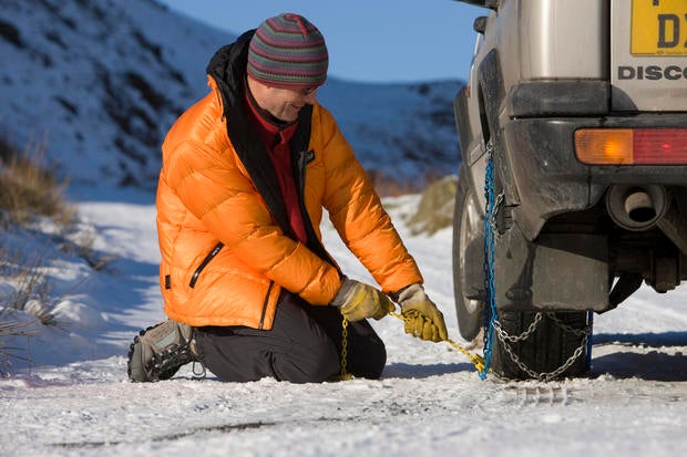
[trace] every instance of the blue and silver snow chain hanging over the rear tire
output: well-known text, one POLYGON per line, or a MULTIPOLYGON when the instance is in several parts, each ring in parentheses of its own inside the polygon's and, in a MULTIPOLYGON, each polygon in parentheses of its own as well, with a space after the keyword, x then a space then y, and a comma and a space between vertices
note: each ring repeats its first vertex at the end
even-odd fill
MULTIPOLYGON (((540 381, 551 381, 565 372, 575 361, 580 357, 589 343, 589 333, 592 332, 592 324, 588 323, 584 329, 574 329, 571 325, 562 322, 556 318, 553 312, 537 312, 534 315, 534 320, 527 326, 527 329, 522 332, 520 335, 509 335, 505 330, 501 326, 499 322, 499 314, 496 312, 496 284, 495 284, 495 274, 494 274, 494 237, 499 235, 496 227, 496 215, 499 212, 499 208, 504 202, 504 194, 501 193, 499 196, 494 195, 494 160, 493 160, 494 146, 490 141, 486 144, 486 173, 484 178, 484 197, 486 199, 486 208, 484 216, 484 289, 486 291, 485 294, 485 312, 484 312, 484 368, 479 371, 480 377, 482 380, 486 378, 486 375, 490 372, 491 365, 491 356, 492 356, 492 346, 494 341, 494 335, 501 342, 503 350, 509 354, 513 363, 515 363, 520 370, 525 372, 532 378, 540 381), (540 322, 542 322, 542 318, 546 315, 551 319, 560 329, 567 333, 572 333, 576 336, 582 336, 582 342, 578 347, 575 349, 573 354, 556 370, 550 373, 536 373, 529 366, 526 366, 520 357, 513 352, 511 347, 511 343, 517 343, 521 341, 525 341, 530 337, 540 322)), ((591 318, 591 313, 589 313, 591 318)))

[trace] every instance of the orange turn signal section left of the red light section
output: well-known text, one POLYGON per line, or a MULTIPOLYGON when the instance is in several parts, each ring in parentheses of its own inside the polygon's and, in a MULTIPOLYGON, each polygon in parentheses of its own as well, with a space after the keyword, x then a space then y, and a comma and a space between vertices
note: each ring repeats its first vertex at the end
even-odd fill
POLYGON ((575 153, 589 165, 630 165, 633 163, 630 128, 584 128, 575 132, 575 153))

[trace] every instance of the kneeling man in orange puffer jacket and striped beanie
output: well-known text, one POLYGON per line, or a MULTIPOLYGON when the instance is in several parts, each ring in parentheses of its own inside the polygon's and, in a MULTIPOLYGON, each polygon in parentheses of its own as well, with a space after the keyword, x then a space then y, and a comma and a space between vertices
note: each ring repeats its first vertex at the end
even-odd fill
POLYGON ((406 331, 447 339, 420 271, 331 114, 317 102, 328 53, 285 13, 219 49, 211 92, 163 144, 160 280, 170 320, 131 345, 134 382, 201 362, 224 381, 378 378, 386 350, 368 318, 400 305, 406 331), (383 293, 348 279, 320 242, 322 208, 383 293))

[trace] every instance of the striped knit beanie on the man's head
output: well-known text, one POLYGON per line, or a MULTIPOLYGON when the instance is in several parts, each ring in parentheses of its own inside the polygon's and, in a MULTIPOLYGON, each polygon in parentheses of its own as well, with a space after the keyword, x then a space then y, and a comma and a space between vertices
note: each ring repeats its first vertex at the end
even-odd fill
POLYGON ((248 74, 274 87, 319 87, 327 79, 328 64, 325 38, 298 14, 267 19, 248 46, 248 74))

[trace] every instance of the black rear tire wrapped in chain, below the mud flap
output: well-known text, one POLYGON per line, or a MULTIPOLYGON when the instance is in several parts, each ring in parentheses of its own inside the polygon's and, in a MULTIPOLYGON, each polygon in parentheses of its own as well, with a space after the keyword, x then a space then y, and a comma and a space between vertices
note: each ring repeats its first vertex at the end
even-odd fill
MULTIPOLYGON (((535 311, 500 311, 501 328, 509 335, 521 335, 536 316, 535 311)), ((491 368, 501 377, 510 380, 539 378, 550 381, 562 377, 586 376, 591 362, 592 322, 586 311, 558 311, 542 313, 536 330, 525 340, 504 342, 496 336, 492 345, 491 368), (553 319, 552 316, 553 315, 553 319), (573 330, 574 329, 574 330, 573 330), (586 337, 585 337, 586 331, 586 337), (506 351, 510 347, 514 356, 520 360, 530 372, 522 370, 506 351), (580 355, 572 364, 553 375, 581 349, 580 355), (536 373, 534 376, 532 373, 536 373)))

